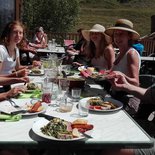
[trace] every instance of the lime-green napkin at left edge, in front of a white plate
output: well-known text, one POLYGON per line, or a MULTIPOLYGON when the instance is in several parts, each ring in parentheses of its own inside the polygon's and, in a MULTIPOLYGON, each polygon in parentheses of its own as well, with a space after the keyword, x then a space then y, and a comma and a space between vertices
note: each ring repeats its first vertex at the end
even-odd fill
POLYGON ((6 121, 6 122, 15 122, 22 119, 21 115, 8 115, 8 114, 0 114, 0 120, 6 121))

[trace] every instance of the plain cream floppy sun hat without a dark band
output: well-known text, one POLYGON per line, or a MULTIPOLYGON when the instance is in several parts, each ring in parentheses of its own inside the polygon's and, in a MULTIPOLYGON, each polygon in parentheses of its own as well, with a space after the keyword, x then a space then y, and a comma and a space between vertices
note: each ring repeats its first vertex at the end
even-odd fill
POLYGON ((105 39, 107 40, 107 42, 111 40, 110 36, 104 33, 105 27, 100 24, 95 24, 90 30, 82 30, 82 35, 87 41, 90 41, 90 32, 102 33, 105 36, 105 39))

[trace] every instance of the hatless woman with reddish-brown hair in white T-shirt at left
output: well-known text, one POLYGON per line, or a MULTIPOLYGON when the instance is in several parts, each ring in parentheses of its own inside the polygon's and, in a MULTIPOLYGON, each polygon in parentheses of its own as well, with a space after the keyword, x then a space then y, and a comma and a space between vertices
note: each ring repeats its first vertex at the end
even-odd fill
MULTIPOLYGON (((18 44, 23 39, 25 33, 24 25, 19 21, 12 21, 6 25, 1 35, 0 45, 0 75, 8 75, 13 71, 18 71, 33 66, 22 66, 20 64, 18 44)), ((37 65, 37 62, 35 63, 37 65)), ((38 63, 39 65, 39 63, 38 63)), ((17 73, 17 72, 16 72, 17 73)), ((18 76, 18 75, 17 75, 18 76)), ((8 91, 10 86, 5 86, 4 91, 8 91)))

